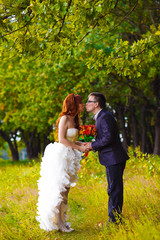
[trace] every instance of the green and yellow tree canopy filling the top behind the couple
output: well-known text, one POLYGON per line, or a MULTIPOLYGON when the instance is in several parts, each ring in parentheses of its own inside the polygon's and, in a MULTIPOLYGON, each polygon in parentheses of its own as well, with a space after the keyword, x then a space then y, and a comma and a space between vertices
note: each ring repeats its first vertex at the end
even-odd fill
MULTIPOLYGON (((0 130, 36 129, 48 137, 68 93, 85 102, 100 91, 116 117, 123 106, 128 133, 130 107, 136 108, 139 135, 139 109, 146 107, 153 152, 151 128, 160 107, 154 87, 160 76, 158 11, 151 0, 1 1, 0 130)), ((91 121, 86 113, 83 121, 91 121)))

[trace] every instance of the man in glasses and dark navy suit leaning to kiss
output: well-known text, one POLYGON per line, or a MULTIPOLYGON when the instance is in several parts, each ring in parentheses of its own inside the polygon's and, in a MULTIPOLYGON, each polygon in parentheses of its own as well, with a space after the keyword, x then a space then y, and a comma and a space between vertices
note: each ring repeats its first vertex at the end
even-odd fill
POLYGON ((97 129, 96 141, 86 143, 86 150, 98 151, 99 161, 106 167, 109 222, 118 224, 123 205, 123 171, 128 155, 120 142, 116 120, 106 110, 105 96, 91 93, 86 109, 94 114, 97 129))

